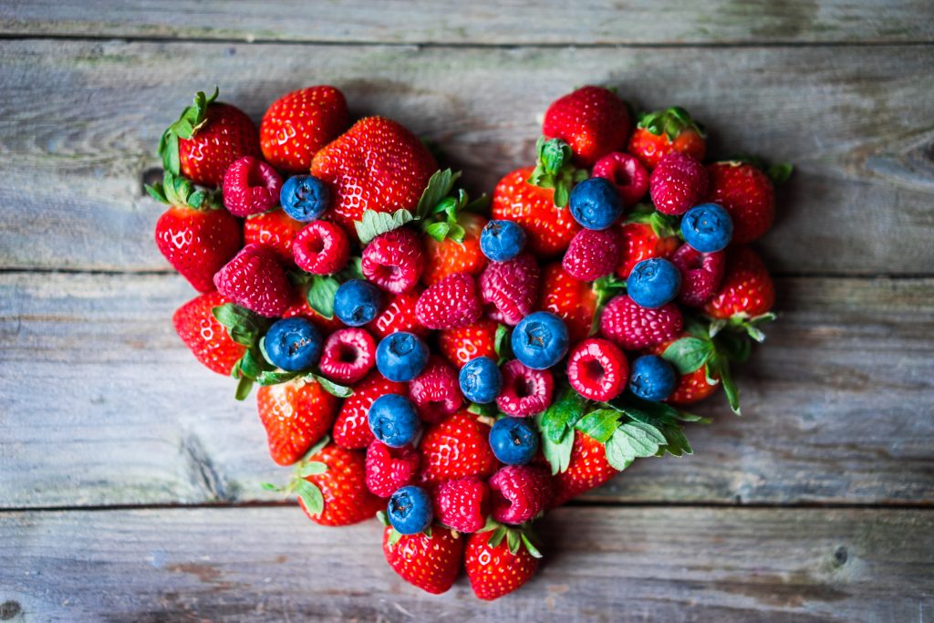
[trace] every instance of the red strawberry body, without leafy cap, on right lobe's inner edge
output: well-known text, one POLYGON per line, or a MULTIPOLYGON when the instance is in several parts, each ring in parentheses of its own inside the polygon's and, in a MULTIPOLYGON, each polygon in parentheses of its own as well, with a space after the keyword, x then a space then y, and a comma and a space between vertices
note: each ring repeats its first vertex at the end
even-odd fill
POLYGON ((551 258, 568 248, 581 226, 571 210, 555 205, 555 191, 526 181, 533 170, 531 166, 517 169, 500 180, 493 191, 492 214, 494 219, 515 220, 522 226, 532 255, 551 258))

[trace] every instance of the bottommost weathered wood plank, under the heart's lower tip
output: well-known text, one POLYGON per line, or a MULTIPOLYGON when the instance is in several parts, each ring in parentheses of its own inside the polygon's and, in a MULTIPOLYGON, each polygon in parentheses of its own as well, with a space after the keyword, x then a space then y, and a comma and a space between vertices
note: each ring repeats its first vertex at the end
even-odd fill
POLYGON ((21 621, 924 621, 928 511, 573 508, 546 564, 496 602, 430 597, 383 560, 375 521, 294 507, 4 514, 0 602, 21 621), (323 573, 327 570, 326 573, 323 573))

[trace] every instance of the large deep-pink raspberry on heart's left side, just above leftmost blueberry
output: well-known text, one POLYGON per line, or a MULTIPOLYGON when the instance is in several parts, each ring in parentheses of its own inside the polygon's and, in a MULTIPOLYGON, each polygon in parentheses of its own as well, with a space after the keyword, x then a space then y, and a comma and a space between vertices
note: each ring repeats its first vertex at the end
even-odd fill
POLYGON ((233 260, 215 273, 214 285, 233 303, 267 318, 282 316, 293 295, 276 254, 257 244, 240 249, 233 260))

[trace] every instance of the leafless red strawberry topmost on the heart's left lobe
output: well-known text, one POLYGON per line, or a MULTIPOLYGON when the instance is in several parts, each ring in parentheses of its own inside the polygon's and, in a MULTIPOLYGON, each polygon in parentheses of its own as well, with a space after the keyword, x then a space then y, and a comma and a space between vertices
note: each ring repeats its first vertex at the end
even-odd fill
POLYGON ((277 169, 304 173, 318 149, 347 130, 349 123, 347 100, 334 87, 286 93, 262 116, 262 155, 277 169))

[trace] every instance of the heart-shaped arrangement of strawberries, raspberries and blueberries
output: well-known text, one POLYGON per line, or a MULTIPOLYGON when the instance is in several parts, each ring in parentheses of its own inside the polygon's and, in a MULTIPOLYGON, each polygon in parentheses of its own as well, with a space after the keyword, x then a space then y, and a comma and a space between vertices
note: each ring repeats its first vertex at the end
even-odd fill
POLYGON ((378 516, 432 593, 466 569, 493 600, 535 573, 533 523, 643 457, 691 453, 684 410, 723 388, 773 319, 748 247, 773 182, 704 163, 680 107, 588 86, 545 113, 537 158, 471 199, 396 121, 342 92, 273 103, 259 129, 199 92, 164 133, 156 244, 200 292, 179 337, 254 386, 275 488, 318 524, 378 516))

